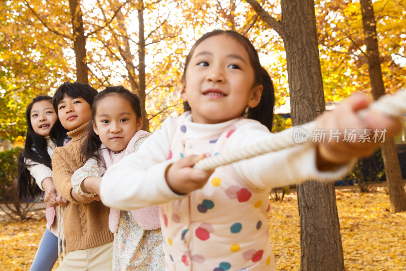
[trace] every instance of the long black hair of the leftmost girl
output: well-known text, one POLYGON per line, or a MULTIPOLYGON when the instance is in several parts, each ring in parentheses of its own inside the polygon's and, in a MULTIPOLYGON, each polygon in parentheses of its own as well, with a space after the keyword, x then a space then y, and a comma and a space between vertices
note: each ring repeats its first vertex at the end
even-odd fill
MULTIPOLYGON (((42 136, 34 132, 31 124, 31 109, 32 106, 39 101, 50 101, 52 103, 52 97, 38 96, 32 99, 32 102, 27 106, 25 111, 25 117, 27 120, 27 135, 25 139, 24 149, 21 151, 18 157, 17 170, 18 170, 18 185, 17 185, 17 197, 19 199, 36 198, 41 194, 41 189, 37 186, 35 180, 31 178, 31 174, 27 169, 26 159, 30 159, 38 164, 43 164, 52 169, 51 157, 47 151, 47 140, 42 136)), ((56 120, 56 123, 59 120, 56 120)), ((60 124, 60 122, 59 122, 60 124)), ((32 165, 31 165, 32 166, 32 165)))

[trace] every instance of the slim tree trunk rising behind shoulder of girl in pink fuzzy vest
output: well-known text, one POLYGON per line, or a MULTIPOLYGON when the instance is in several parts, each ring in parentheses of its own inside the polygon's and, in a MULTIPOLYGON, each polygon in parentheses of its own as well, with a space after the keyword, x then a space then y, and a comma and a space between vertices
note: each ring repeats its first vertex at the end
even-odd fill
POLYGON ((149 123, 147 111, 145 110, 145 37, 144 37, 144 3, 142 0, 138 3, 138 23, 139 23, 139 42, 138 42, 138 57, 140 59, 138 65, 138 96, 141 100, 141 114, 143 116, 143 130, 149 132, 149 123))

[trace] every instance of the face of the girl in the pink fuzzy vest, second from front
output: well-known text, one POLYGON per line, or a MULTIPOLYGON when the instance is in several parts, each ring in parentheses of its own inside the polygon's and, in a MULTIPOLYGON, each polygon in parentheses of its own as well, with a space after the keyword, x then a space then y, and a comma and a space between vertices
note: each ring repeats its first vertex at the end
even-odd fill
POLYGON ((143 127, 131 103, 119 94, 99 100, 93 119, 93 130, 100 141, 113 152, 127 147, 134 134, 143 127))

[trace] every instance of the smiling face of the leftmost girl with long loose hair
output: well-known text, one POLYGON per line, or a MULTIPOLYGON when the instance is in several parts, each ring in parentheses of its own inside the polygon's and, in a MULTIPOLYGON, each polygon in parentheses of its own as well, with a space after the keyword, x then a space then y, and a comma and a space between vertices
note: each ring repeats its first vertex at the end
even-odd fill
POLYGON ((39 135, 49 136, 49 131, 58 116, 52 106, 52 100, 42 100, 32 105, 30 122, 32 129, 39 135))

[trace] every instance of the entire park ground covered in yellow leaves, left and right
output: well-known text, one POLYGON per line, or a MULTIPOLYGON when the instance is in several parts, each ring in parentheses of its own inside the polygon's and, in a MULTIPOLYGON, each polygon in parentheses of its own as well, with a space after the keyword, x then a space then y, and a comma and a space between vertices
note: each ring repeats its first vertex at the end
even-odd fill
MULTIPOLYGON (((390 212, 386 187, 370 193, 336 190, 346 270, 406 270, 406 213, 390 212)), ((39 208, 24 222, 0 214, 0 269, 29 270, 45 229, 39 208)), ((282 202, 271 199, 269 240, 278 270, 299 270, 300 228, 294 190, 282 202)), ((53 270, 56 269, 58 262, 53 270)))

